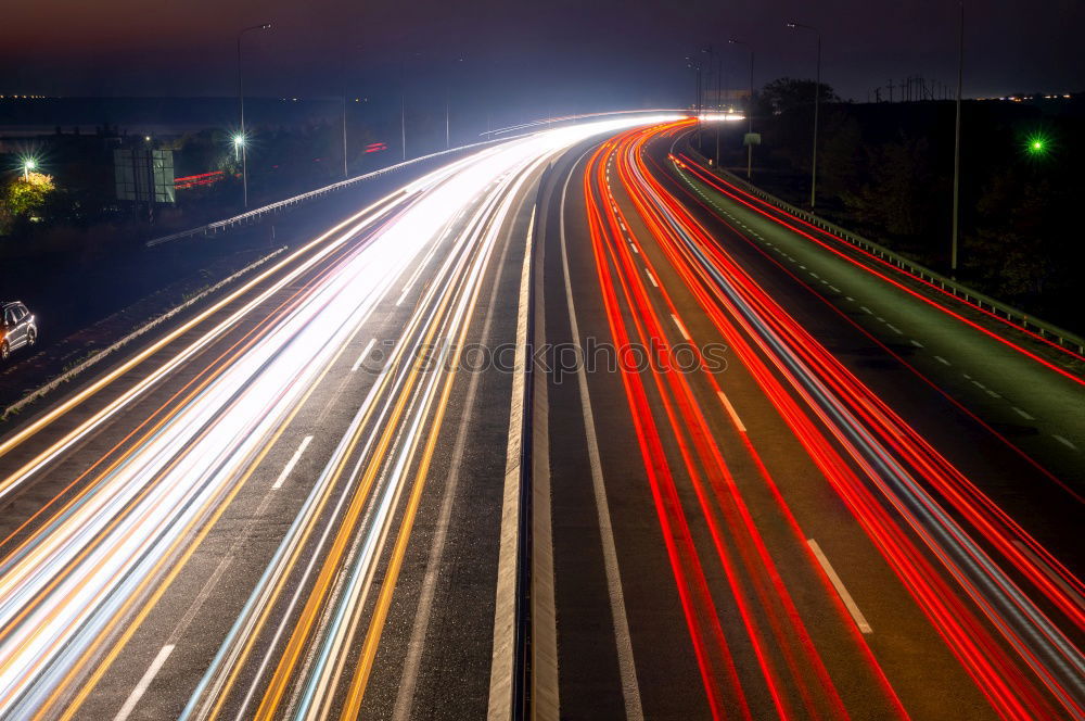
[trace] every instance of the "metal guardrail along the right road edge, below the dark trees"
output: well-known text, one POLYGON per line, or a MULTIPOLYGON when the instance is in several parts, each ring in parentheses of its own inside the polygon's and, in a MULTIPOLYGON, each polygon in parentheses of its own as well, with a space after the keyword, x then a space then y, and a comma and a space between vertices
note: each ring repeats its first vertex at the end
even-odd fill
MULTIPOLYGON (((686 143, 684 151, 688 152, 690 155, 702 159, 704 161, 704 166, 707 167, 709 159, 694 150, 688 142, 686 143)), ((795 217, 799 217, 826 232, 832 233, 833 236, 847 241, 852 245, 876 255, 877 257, 897 266, 902 270, 905 270, 923 281, 937 286, 943 291, 978 307, 980 311, 991 313, 999 319, 1007 320, 1010 325, 1017 326, 1026 332, 1038 334, 1042 339, 1055 343, 1064 350, 1075 352, 1077 355, 1085 355, 1085 338, 1082 338, 1076 333, 1059 328, 1058 326, 1036 318, 1024 311, 1016 308, 1012 305, 1003 303, 1001 301, 991 298, 990 295, 975 291, 968 286, 954 280, 953 278, 947 278, 940 273, 931 270, 924 265, 920 265, 919 263, 904 257, 898 253, 894 253, 884 245, 867 240, 861 236, 857 236, 850 230, 841 228, 834 223, 830 223, 822 217, 814 215, 813 213, 795 207, 791 203, 762 190, 746 180, 743 180, 730 170, 718 167, 713 167, 711 169, 717 175, 725 177, 728 182, 742 188, 750 194, 756 195, 763 201, 776 205, 780 210, 787 211, 791 215, 794 215, 795 217)))

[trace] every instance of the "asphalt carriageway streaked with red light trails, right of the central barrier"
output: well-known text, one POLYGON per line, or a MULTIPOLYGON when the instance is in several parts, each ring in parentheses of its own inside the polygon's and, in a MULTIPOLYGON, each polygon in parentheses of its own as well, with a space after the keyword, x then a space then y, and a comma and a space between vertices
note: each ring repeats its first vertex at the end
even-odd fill
POLYGON ((550 207, 548 338, 596 359, 550 388, 562 712, 1080 712, 1080 360, 822 246, 680 134, 550 207), (608 344, 654 360, 603 372, 608 344))

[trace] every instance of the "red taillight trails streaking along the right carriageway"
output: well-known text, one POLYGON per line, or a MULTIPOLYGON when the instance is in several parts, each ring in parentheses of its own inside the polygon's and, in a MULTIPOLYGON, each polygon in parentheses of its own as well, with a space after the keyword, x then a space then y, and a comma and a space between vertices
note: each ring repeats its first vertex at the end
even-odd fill
MULTIPOLYGON (((653 278, 661 275, 611 194, 608 168, 616 169, 617 184, 636 207, 637 219, 992 707, 1007 719, 1054 716, 1054 704, 1080 716, 1085 668, 1080 650, 985 548, 997 553, 1016 578, 1029 583, 1078 630, 1085 629, 1085 612, 1074 594, 1080 595, 1085 586, 769 298, 652 177, 642 157, 644 144, 686 125, 627 131, 602 146, 586 170, 589 231, 615 342, 621 346, 630 337, 651 341, 669 358, 672 346, 659 306, 673 315, 682 336, 690 324, 681 320, 665 288, 647 287, 639 265, 653 278), (973 534, 986 545, 981 546, 973 534)), ((686 157, 677 162, 687 169, 691 165, 686 157)), ((718 185, 703 169, 691 172, 718 185)), ((720 190, 754 207, 735 192, 720 190)), ((803 229, 754 210, 844 255, 803 229)), ((866 269, 934 304, 886 274, 866 269)), ((956 312, 937 307, 1065 375, 956 312)), ((846 717, 730 476, 690 379, 656 368, 650 375, 651 385, 638 372, 626 370, 622 378, 710 707, 718 717, 727 714, 725 709, 748 712, 743 690, 736 686, 731 649, 715 616, 720 604, 733 600, 777 712, 782 718, 796 711, 815 718, 846 717), (653 393, 660 403, 649 400, 653 393), (681 459, 677 468, 664 451, 662 439, 668 435, 675 439, 681 459), (693 486, 732 598, 714 599, 705 582, 704 565, 710 559, 699 556, 690 542, 689 519, 676 490, 679 471, 693 486)), ((725 399, 716 378, 706 370, 702 375, 725 399)), ((805 547, 805 535, 753 441, 744 429, 736 430, 793 539, 805 547)), ((886 705, 905 716, 813 554, 807 553, 807 559, 852 629, 853 646, 877 679, 886 705)))

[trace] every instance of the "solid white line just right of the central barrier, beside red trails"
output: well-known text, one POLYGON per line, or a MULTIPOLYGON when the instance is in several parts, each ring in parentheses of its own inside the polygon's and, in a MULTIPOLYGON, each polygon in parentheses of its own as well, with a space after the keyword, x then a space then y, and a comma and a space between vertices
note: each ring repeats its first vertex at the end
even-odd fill
MULTIPOLYGON (((587 153, 585 153, 587 154, 587 153)), ((584 157, 583 155, 580 156, 584 157)), ((575 165, 574 165, 575 168, 575 165)), ((565 249, 565 194, 569 191, 570 173, 561 191, 560 230, 561 265, 565 274, 565 305, 569 308, 569 326, 573 342, 580 339, 576 322, 576 306, 573 304, 573 283, 569 274, 569 252, 565 249)), ((647 270, 644 273, 648 273, 647 270)), ((651 278, 651 274, 648 276, 651 278)), ((655 280, 652 280, 655 283, 655 280)), ((625 718, 642 721, 644 711, 640 704, 640 687, 637 685, 637 667, 633 657, 633 641, 629 635, 629 620, 625 612, 625 593, 622 590, 622 572, 617 565, 617 547, 614 543, 614 528, 611 523, 610 504, 607 501, 607 484, 603 482, 602 461, 599 459, 599 439, 596 435, 595 413, 591 396, 588 395, 588 377, 584 364, 577 364, 576 383, 580 393, 580 414, 584 418, 585 440, 588 445, 588 461, 591 468, 591 491, 596 502, 596 517, 599 522, 599 540, 603 551, 603 570, 607 573, 607 594, 610 599, 611 623, 614 624, 614 645, 617 654, 618 675, 622 679, 622 697, 625 700, 625 718)))

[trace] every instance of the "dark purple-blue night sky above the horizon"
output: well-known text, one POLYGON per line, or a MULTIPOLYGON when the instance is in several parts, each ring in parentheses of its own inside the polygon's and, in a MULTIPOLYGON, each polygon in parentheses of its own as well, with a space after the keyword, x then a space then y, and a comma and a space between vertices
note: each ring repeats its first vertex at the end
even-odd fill
MULTIPOLYGON (((246 94, 350 94, 411 83, 532 93, 562 106, 688 102, 684 56, 728 36, 757 50, 758 85, 813 76, 845 98, 909 74, 952 81, 956 3, 937 0, 37 0, 4 2, 0 92, 218 96, 235 91, 237 28, 246 37, 246 94), (463 61, 452 65, 451 59, 463 61)), ((967 2, 966 94, 1085 89, 1085 2, 967 2)), ((728 52, 729 73, 745 56, 728 52)), ((735 87, 739 81, 732 84, 735 87)))

